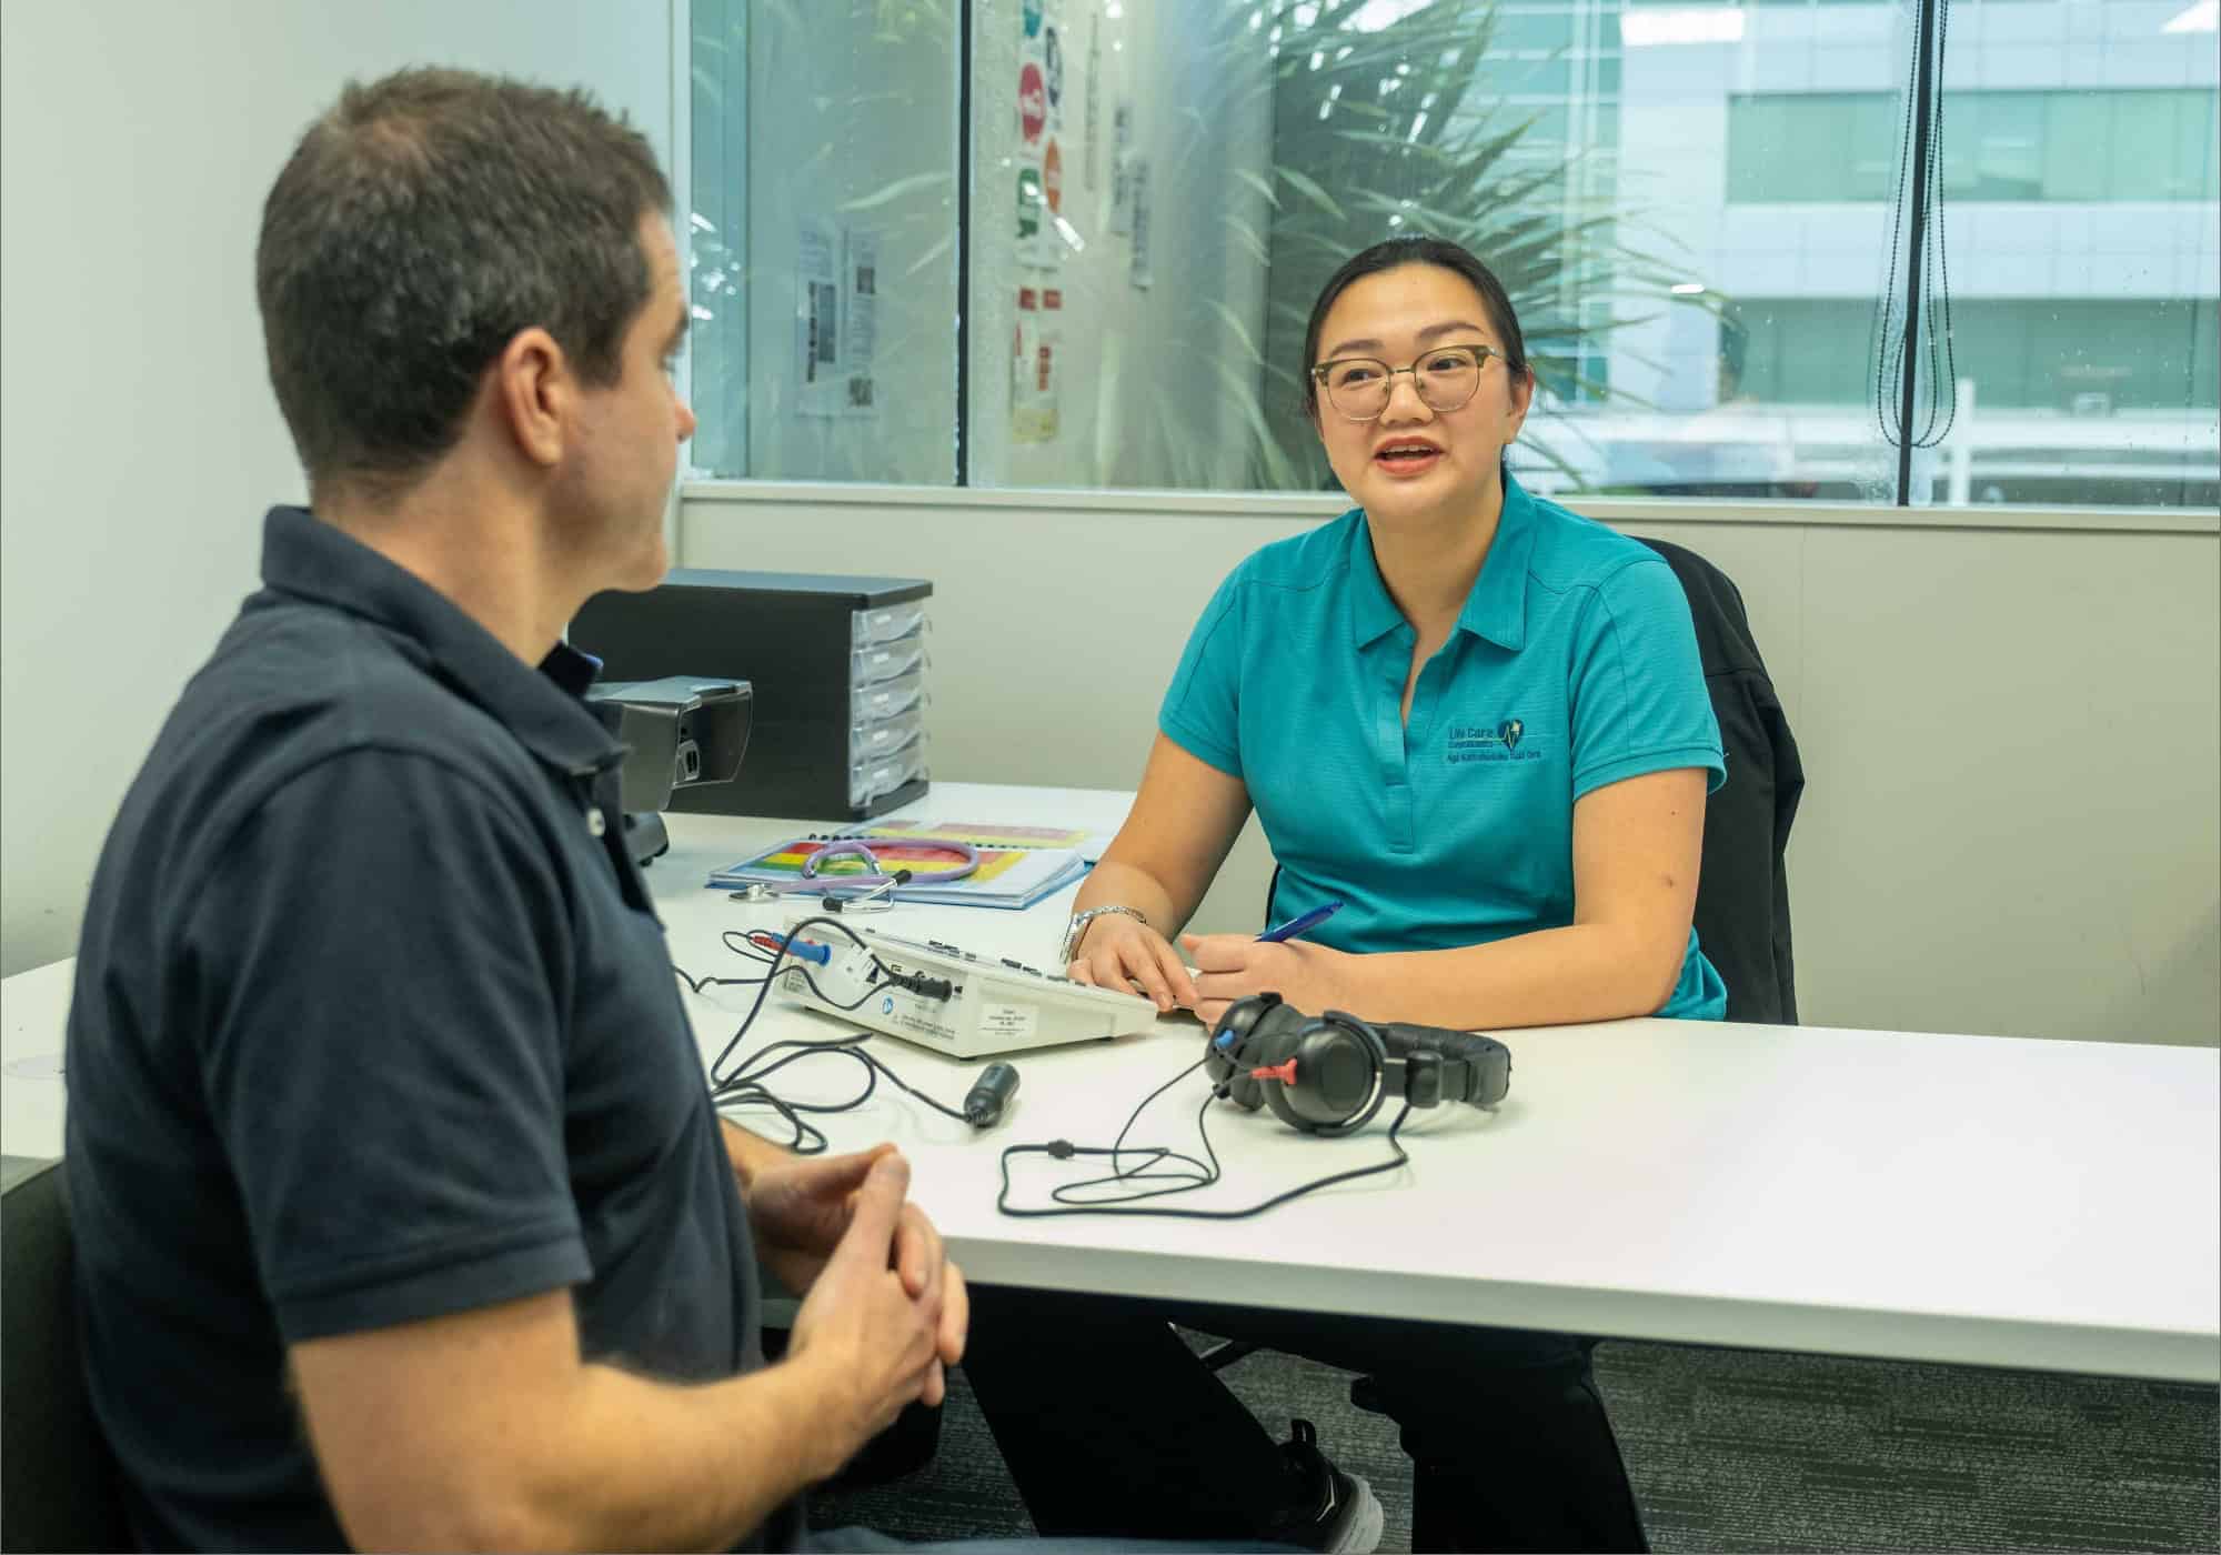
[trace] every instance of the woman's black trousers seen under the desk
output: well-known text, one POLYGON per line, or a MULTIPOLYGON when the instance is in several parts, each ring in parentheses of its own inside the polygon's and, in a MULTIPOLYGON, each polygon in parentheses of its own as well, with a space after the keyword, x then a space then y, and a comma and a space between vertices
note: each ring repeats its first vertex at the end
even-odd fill
POLYGON ((1417 1551, 1648 1548, 1590 1340, 977 1286, 964 1373, 1044 1535, 1253 1539, 1284 1506, 1277 1444, 1170 1322, 1370 1375, 1417 1551))

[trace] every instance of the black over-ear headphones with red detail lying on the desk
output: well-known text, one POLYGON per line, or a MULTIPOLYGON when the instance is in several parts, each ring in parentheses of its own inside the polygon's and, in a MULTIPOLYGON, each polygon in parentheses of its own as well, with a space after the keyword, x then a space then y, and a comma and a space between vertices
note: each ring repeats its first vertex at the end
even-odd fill
POLYGON ((1493 1037, 1441 1026, 1366 1022, 1341 1011, 1313 1020, 1277 993, 1257 993, 1219 1015, 1204 1069, 1235 1106, 1268 1106, 1304 1133, 1353 1133, 1388 1097, 1495 1106, 1510 1088, 1513 1055, 1493 1037))

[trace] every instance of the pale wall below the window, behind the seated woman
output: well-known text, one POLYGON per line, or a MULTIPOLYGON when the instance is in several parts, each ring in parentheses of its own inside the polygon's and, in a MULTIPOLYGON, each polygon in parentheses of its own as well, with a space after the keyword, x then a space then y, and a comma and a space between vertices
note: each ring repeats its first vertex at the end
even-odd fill
MULTIPOLYGON (((680 522, 689 566, 933 578, 937 778, 1124 789, 1210 589, 1335 506, 704 486, 680 522)), ((2212 515, 1592 511, 1712 558, 1750 604, 1810 773, 1808 1024, 2221 1042, 2212 515)), ((1244 837, 1199 922, 1255 924, 1268 869, 1244 837)))

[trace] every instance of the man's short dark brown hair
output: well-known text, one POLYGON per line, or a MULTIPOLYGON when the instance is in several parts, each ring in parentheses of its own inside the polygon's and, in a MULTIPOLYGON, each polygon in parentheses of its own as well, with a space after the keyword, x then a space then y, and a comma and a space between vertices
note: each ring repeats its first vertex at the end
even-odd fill
POLYGON ((271 187, 255 247, 311 495, 413 484, 522 329, 615 382, 651 289, 640 222, 669 209, 646 138, 584 91, 444 69, 349 82, 271 187))

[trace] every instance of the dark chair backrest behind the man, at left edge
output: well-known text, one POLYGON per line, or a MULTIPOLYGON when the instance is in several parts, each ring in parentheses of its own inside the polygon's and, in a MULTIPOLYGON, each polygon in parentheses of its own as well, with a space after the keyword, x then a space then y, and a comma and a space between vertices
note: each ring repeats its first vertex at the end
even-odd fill
POLYGON ((122 1486, 93 1422, 62 1164, 0 1195, 0 1551, 124 1551, 122 1486))

